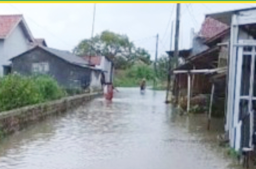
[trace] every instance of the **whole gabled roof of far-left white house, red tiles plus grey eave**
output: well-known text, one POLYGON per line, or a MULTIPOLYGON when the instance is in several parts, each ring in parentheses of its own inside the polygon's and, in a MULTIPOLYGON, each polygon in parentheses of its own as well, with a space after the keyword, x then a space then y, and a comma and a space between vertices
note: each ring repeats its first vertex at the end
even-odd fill
POLYGON ((27 38, 33 42, 34 38, 21 14, 0 15, 0 39, 6 39, 19 24, 27 38))

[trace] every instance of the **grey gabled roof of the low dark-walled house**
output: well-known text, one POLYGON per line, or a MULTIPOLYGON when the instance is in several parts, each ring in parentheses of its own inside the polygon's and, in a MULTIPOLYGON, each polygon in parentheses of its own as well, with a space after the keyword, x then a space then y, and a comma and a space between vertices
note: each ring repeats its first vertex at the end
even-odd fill
POLYGON ((73 53, 71 53, 69 51, 62 51, 62 50, 58 50, 58 49, 44 47, 44 46, 41 46, 41 45, 37 45, 37 46, 29 49, 28 51, 23 52, 23 53, 19 54, 18 56, 15 56, 15 57, 11 58, 10 60, 13 60, 13 59, 15 59, 17 57, 20 57, 23 54, 28 53, 28 52, 36 49, 36 48, 41 48, 44 51, 49 52, 49 53, 53 54, 54 56, 56 56, 56 57, 58 57, 60 59, 63 59, 66 62, 71 63, 73 65, 78 65, 78 66, 81 66, 81 67, 84 67, 84 68, 90 68, 90 69, 93 69, 93 70, 100 70, 100 69, 95 69, 95 68, 89 66, 89 63, 86 60, 82 59, 79 56, 76 56, 75 54, 73 54, 73 53))

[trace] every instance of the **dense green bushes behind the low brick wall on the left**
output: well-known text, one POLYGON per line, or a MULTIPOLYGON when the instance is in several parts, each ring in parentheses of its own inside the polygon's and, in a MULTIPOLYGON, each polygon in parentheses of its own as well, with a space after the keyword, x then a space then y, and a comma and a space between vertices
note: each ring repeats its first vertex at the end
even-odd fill
POLYGON ((57 81, 46 75, 7 75, 0 78, 0 111, 59 99, 65 94, 57 81))

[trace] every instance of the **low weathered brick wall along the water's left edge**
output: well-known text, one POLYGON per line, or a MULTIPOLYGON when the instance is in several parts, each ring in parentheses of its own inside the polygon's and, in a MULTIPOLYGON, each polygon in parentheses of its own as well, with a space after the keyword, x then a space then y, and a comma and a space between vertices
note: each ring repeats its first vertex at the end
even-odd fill
POLYGON ((74 109, 101 93, 81 94, 60 100, 0 112, 0 134, 11 134, 25 128, 28 124, 43 120, 47 116, 74 109))

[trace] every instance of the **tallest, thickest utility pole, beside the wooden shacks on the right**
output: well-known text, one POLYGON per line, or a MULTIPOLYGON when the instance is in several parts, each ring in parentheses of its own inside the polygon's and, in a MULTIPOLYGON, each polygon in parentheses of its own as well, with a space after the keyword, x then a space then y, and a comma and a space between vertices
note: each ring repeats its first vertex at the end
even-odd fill
MULTIPOLYGON (((179 42, 179 35, 180 35, 180 4, 177 4, 177 10, 176 10, 176 27, 175 27, 175 41, 174 41, 174 69, 178 66, 178 42, 179 42)), ((175 83, 175 76, 173 78, 172 82, 172 92, 175 94, 175 101, 178 99, 178 93, 175 91, 176 89, 176 83, 175 83)))

